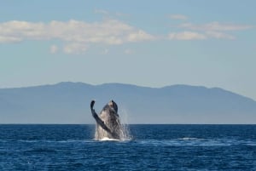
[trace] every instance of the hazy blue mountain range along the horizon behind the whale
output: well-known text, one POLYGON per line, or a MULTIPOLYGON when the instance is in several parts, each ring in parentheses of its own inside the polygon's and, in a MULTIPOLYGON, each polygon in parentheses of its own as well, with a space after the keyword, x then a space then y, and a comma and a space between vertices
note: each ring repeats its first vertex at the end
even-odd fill
POLYGON ((58 83, 0 89, 0 123, 95 123, 114 100, 125 123, 256 123, 256 101, 222 88, 172 85, 58 83))

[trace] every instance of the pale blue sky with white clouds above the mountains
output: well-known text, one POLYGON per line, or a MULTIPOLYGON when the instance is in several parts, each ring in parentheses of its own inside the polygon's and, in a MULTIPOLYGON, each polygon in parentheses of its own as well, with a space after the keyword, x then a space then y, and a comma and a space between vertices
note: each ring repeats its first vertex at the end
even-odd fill
POLYGON ((2 1, 0 88, 219 87, 256 100, 256 1, 2 1))

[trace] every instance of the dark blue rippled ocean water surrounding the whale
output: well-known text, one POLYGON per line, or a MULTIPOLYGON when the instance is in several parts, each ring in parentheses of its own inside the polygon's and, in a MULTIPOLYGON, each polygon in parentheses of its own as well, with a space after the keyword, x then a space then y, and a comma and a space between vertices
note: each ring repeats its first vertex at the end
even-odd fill
POLYGON ((256 125, 0 125, 0 170, 256 170, 256 125))

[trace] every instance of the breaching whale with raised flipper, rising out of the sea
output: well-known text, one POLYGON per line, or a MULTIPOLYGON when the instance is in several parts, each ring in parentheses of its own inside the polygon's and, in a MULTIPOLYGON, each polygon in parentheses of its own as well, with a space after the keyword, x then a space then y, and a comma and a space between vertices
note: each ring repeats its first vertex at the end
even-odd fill
POLYGON ((104 138, 120 140, 123 130, 119 120, 118 105, 113 100, 110 100, 98 116, 94 110, 94 104, 95 100, 91 100, 90 110, 96 120, 95 140, 102 140, 104 138))

